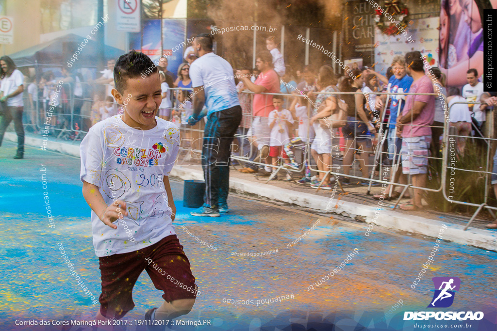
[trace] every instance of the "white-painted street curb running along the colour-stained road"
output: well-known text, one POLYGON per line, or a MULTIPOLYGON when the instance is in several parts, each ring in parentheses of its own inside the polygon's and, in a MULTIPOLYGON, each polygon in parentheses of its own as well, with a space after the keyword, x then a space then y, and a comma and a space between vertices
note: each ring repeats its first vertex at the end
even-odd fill
MULTIPOLYGON (((5 139, 17 141, 15 133, 6 132, 5 139)), ((43 139, 26 136, 25 144, 39 147, 42 146, 43 139)), ((79 145, 74 145, 66 142, 47 141, 47 150, 58 151, 72 156, 80 156, 79 145)), ((202 171, 193 170, 175 166, 170 177, 181 180, 203 180, 202 171)), ((285 202, 295 204, 303 208, 311 208, 317 211, 325 212, 334 208, 333 211, 328 211, 344 216, 356 218, 362 216, 366 223, 370 223, 369 228, 372 228, 369 235, 374 235, 374 226, 372 223, 376 206, 367 206, 350 201, 341 201, 336 199, 325 198, 308 193, 294 192, 288 189, 282 189, 267 184, 254 183, 244 179, 230 178, 230 190, 242 195, 252 195, 259 198, 265 198, 271 201, 285 202)), ((407 215, 397 211, 391 211, 381 208, 377 215, 376 225, 389 229, 416 233, 431 238, 437 238, 442 225, 447 228, 442 234, 442 239, 453 241, 462 245, 470 245, 477 248, 482 248, 490 251, 497 251, 497 232, 496 234, 489 233, 490 231, 469 228, 463 231, 464 227, 457 224, 444 223, 433 219, 425 219, 415 215, 407 215)), ((366 233, 366 227, 364 229, 366 233)))

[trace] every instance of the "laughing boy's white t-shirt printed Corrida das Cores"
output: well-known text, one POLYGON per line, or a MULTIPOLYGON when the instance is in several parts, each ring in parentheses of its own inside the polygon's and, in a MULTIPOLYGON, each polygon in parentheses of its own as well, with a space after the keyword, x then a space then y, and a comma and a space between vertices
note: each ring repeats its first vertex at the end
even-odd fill
POLYGON ((176 234, 163 178, 179 149, 179 130, 156 117, 154 129, 126 125, 119 115, 91 127, 80 146, 80 179, 96 185, 105 203, 126 202, 127 216, 105 225, 91 211, 93 246, 98 257, 128 253, 176 234))

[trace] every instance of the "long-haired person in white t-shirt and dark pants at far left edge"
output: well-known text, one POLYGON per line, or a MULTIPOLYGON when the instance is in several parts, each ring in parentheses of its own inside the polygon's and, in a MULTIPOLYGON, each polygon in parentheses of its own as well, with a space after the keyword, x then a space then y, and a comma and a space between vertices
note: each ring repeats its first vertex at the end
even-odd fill
POLYGON ((8 56, 0 58, 0 66, 2 77, 0 102, 2 102, 3 108, 3 117, 0 123, 0 145, 3 140, 3 134, 13 120, 15 133, 17 133, 17 153, 14 159, 22 159, 24 157, 24 128, 22 127, 24 75, 17 70, 14 62, 8 56))

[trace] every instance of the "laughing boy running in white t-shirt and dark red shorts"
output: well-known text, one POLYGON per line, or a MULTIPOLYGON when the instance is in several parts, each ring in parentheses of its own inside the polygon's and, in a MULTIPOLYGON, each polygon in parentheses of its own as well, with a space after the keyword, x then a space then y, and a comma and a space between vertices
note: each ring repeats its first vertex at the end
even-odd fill
POLYGON ((151 66, 135 51, 119 58, 112 95, 122 110, 94 125, 80 147, 83 197, 92 210, 102 280, 95 318, 100 321, 121 319, 133 309, 133 286, 143 270, 164 291, 162 306, 147 311, 145 320, 188 314, 195 303, 197 286, 172 224, 176 207, 167 177, 179 130, 156 117, 162 101, 157 67, 141 78, 151 66))

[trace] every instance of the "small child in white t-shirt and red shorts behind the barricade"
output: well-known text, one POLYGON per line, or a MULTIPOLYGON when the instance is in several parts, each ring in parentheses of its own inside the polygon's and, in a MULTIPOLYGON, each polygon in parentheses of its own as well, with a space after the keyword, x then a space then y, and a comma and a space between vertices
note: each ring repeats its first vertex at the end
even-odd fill
MULTIPOLYGON (((281 109, 283 105, 283 97, 281 95, 273 95, 274 110, 269 113, 269 129, 271 129, 269 139, 269 156, 274 168, 278 166, 278 157, 282 157, 285 163, 290 163, 282 146, 290 140, 289 127, 293 126, 293 116, 288 109, 281 109)), ((273 177, 276 179, 276 176, 273 177)))

